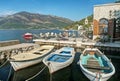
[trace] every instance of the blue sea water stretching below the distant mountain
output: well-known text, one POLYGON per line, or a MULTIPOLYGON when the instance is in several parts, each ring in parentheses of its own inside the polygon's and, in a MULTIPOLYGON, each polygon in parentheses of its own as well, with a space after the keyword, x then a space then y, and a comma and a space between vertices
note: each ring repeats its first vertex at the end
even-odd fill
MULTIPOLYGON (((51 32, 54 32, 54 33, 57 33, 59 34, 60 32, 63 33, 64 30, 57 30, 57 29, 52 29, 52 30, 39 30, 39 29, 36 29, 36 30, 0 30, 0 41, 7 41, 7 40, 20 40, 20 42, 25 42, 24 38, 23 38, 23 35, 25 33, 32 33, 32 34, 36 34, 36 35, 39 35, 40 33, 51 33, 51 32)), ((73 30, 69 30, 68 33, 75 33, 76 36, 78 36, 78 33, 77 31, 73 31, 73 30)))

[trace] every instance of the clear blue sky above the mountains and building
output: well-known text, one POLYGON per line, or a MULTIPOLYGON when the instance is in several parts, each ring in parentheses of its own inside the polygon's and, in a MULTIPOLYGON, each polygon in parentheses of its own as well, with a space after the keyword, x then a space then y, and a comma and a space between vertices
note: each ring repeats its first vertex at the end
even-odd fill
POLYGON ((21 11, 54 15, 79 21, 93 14, 94 5, 116 0, 0 0, 0 16, 21 11))

